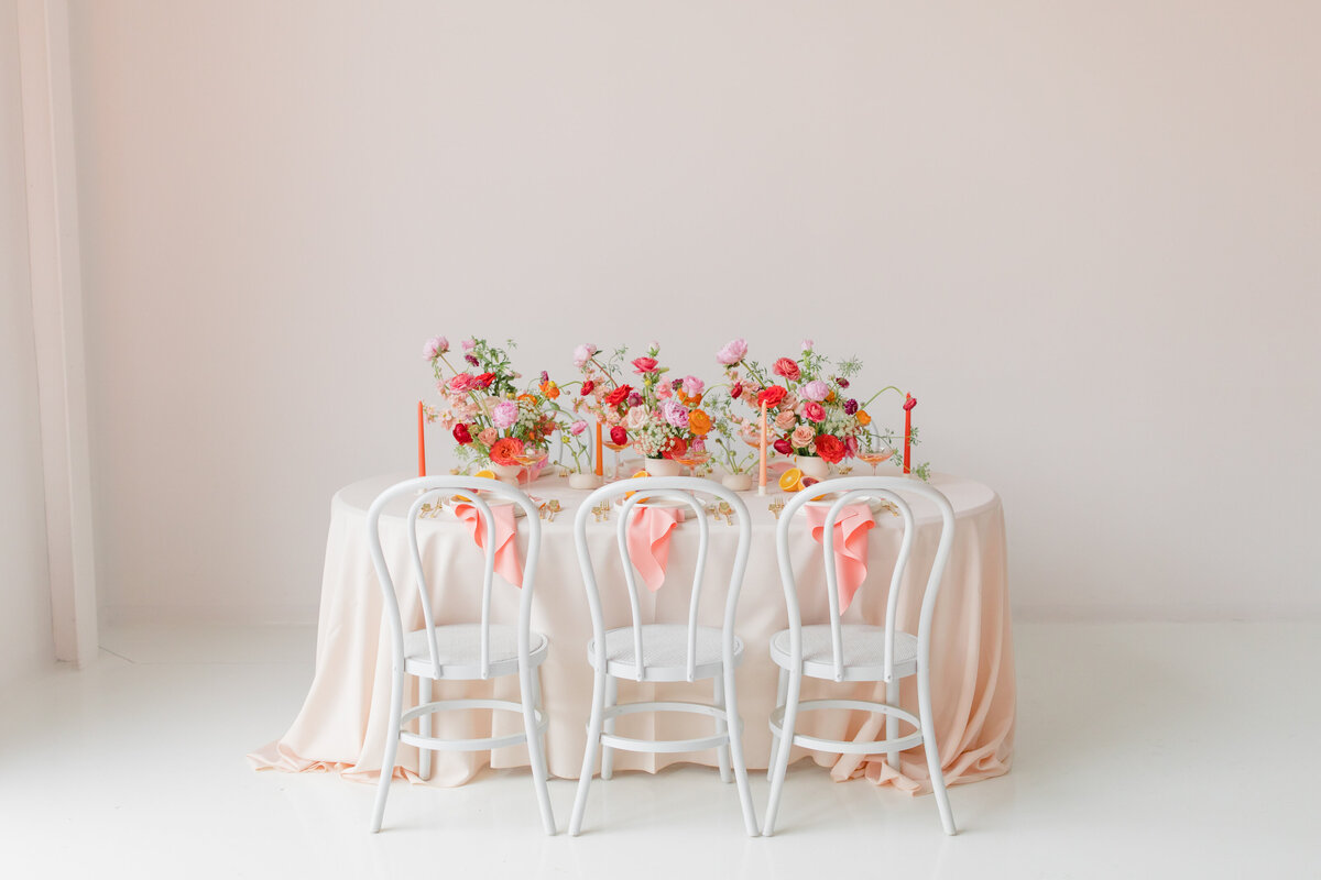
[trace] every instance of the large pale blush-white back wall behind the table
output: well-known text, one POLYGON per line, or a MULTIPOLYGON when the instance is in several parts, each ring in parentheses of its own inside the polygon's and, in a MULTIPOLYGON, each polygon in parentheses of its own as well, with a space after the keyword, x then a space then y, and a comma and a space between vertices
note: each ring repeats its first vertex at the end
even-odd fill
POLYGON ((708 376, 810 335, 1001 492, 1020 615, 1321 612, 1318 4, 71 21, 114 615, 309 617, 330 493, 411 467, 435 332, 708 376))

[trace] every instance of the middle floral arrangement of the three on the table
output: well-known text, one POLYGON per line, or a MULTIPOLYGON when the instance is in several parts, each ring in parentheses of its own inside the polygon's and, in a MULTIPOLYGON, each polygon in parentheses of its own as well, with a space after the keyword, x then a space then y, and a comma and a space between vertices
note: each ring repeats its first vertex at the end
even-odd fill
POLYGON ((660 347, 655 343, 630 363, 637 387, 621 376, 625 348, 617 348, 604 361, 598 354, 593 344, 573 352, 573 363, 583 372, 575 402, 609 430, 610 442, 627 443, 646 458, 705 450, 712 429, 711 416, 700 409, 705 383, 696 376, 667 380, 670 368, 657 360, 660 347))

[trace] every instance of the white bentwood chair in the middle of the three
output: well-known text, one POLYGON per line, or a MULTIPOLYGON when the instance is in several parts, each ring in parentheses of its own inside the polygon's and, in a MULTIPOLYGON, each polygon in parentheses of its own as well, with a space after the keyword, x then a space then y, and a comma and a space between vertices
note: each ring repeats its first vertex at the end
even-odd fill
MULTIPOLYGON (((733 764, 744 825, 749 836, 757 836, 757 817, 748 788, 748 770, 742 755, 742 720, 738 716, 738 697, 734 687, 734 669, 741 662, 744 653, 742 640, 734 635, 734 615, 738 610, 738 591, 742 587, 744 571, 748 567, 748 549, 752 544, 752 524, 746 505, 736 493, 711 480, 691 476, 622 480, 596 489, 583 501, 573 521, 573 537, 577 544, 579 565, 583 569, 583 582, 587 587, 587 600, 592 613, 592 641, 588 644, 587 657, 596 676, 587 751, 583 755, 583 772, 579 777, 577 798, 573 801, 569 834, 577 835, 583 829, 583 813, 587 810, 587 793, 592 785, 592 772, 598 748, 601 751, 602 780, 609 780, 612 776, 613 752, 617 748, 653 753, 696 752, 713 748, 720 763, 723 781, 729 781, 729 767, 733 764), (596 573, 587 546, 587 517, 590 509, 602 501, 610 500, 614 504, 618 496, 629 492, 634 492, 631 497, 618 501, 617 540, 624 562, 624 581, 629 592, 633 623, 608 631, 601 611, 596 573), (705 511, 692 495, 694 492, 704 492, 728 503, 738 524, 738 549, 729 575, 724 624, 720 629, 697 624, 703 570, 711 536, 705 511), (687 624, 642 621, 638 606, 638 582, 627 544, 627 524, 642 499, 678 501, 694 513, 688 521, 696 525, 699 541, 687 624), (621 678, 638 682, 697 682, 709 678, 713 679, 715 698, 711 705, 672 701, 620 705, 617 689, 621 678), (715 734, 686 740, 642 740, 617 736, 614 719, 635 712, 708 715, 715 719, 715 734)), ((680 587, 666 586, 662 588, 678 590, 680 587)))

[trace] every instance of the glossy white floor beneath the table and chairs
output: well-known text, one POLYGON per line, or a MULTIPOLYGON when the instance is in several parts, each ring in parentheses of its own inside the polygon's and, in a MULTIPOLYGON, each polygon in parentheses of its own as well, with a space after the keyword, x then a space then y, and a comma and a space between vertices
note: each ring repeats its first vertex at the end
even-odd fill
MULTIPOLYGON (((0 876, 1321 877, 1321 624, 1032 624, 1016 644, 1017 761, 951 790, 955 838, 930 798, 801 763, 771 839, 700 768, 597 784, 571 839, 540 833, 523 772, 396 784, 370 835, 370 786, 248 769, 303 699, 310 629, 108 632, 91 669, 0 694, 0 876)), ((551 797, 563 827, 573 782, 551 797)))

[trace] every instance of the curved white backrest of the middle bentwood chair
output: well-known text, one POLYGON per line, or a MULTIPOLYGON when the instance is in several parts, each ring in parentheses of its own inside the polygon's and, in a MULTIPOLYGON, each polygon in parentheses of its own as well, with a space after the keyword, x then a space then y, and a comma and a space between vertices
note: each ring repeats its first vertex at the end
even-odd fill
POLYGON ((634 480, 618 480, 608 483, 589 495, 579 507, 573 519, 573 538, 577 545, 579 566, 583 569, 583 583, 587 587, 587 602, 592 612, 592 635, 596 640, 597 669, 605 669, 605 617, 601 612, 601 595, 596 583, 596 573, 592 567, 592 555, 587 546, 587 517, 593 507, 605 500, 612 504, 620 496, 633 493, 618 505, 620 516, 617 521, 617 541, 620 558, 624 562, 624 583, 629 591, 629 610, 633 619, 633 650, 637 660, 637 678, 642 681, 646 674, 642 652, 642 615, 638 603, 638 579, 633 567, 633 557, 629 551, 627 528, 629 520, 634 516, 638 503, 642 499, 666 499, 678 501, 683 509, 692 511, 697 522, 697 559, 692 574, 692 595, 688 602, 688 641, 687 641, 687 668, 686 677, 694 681, 696 674, 697 656, 697 608, 701 598, 701 579, 705 573, 707 550, 711 542, 711 526, 707 522, 705 509, 694 497, 694 492, 712 495, 729 504, 738 525, 738 550, 734 554, 733 567, 729 574, 729 592, 725 600, 725 619, 721 627, 721 644, 725 664, 733 662, 733 636, 734 612, 738 607, 738 591, 742 587, 744 571, 748 567, 748 549, 752 545, 752 520, 748 516, 748 507, 737 493, 729 491, 720 483, 704 480, 694 476, 646 476, 634 480))

